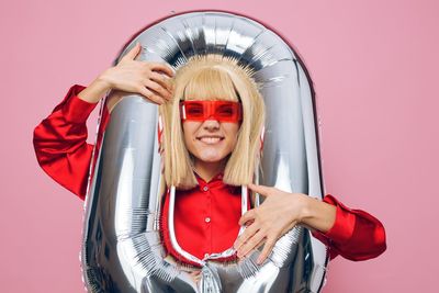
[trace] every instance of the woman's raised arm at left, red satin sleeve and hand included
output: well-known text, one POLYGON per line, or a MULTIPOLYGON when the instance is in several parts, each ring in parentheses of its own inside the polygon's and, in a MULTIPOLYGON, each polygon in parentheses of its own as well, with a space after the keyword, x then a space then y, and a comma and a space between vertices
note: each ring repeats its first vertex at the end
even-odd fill
MULTIPOLYGON (((71 87, 65 99, 34 129, 33 143, 40 166, 80 199, 86 196, 93 150, 93 145, 87 143, 87 119, 105 92, 117 90, 125 94, 138 93, 155 103, 164 103, 171 98, 171 81, 159 74, 162 71, 171 77, 171 68, 159 63, 135 60, 139 52, 140 46, 137 44, 117 66, 106 69, 89 87, 71 87)), ((98 143, 108 123, 109 111, 116 102, 109 101, 104 108, 98 143)))

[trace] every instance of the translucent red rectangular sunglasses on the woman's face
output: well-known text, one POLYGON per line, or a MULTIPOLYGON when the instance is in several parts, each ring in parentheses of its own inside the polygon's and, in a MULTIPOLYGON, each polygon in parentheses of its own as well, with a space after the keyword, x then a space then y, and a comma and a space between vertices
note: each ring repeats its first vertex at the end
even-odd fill
POLYGON ((237 123, 243 120, 243 105, 230 101, 181 101, 180 116, 183 122, 213 117, 221 122, 237 123))

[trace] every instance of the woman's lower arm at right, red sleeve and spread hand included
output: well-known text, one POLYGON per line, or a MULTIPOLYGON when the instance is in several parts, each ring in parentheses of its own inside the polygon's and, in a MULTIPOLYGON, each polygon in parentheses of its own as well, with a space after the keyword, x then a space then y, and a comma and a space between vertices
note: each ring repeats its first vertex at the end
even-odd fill
POLYGON ((261 263, 275 241, 295 225, 308 227, 329 247, 331 259, 341 255, 351 260, 364 260, 385 250, 385 232, 380 221, 361 210, 347 209, 331 195, 318 201, 275 188, 254 184, 249 188, 267 199, 239 221, 248 227, 235 243, 238 257, 266 244, 258 259, 261 263))

